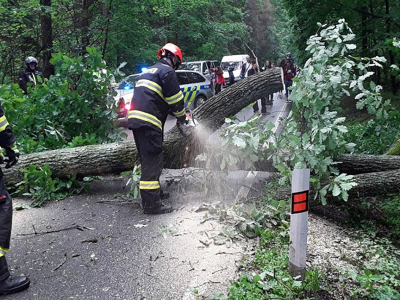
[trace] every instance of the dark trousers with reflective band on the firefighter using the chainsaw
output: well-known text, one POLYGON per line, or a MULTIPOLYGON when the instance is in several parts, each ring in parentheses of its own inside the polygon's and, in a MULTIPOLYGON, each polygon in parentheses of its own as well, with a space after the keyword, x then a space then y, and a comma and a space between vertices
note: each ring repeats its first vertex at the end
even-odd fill
POLYGON ((160 185, 164 153, 162 132, 149 127, 134 128, 133 138, 140 157, 139 190, 143 209, 160 205, 160 185))

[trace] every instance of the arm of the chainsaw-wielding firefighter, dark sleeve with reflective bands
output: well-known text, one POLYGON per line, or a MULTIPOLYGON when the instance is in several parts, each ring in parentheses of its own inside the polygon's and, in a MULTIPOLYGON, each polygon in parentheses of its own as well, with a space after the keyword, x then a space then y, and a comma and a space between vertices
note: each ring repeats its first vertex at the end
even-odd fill
POLYGON ((184 113, 184 100, 183 93, 180 90, 178 78, 175 71, 165 73, 161 78, 162 81, 162 94, 164 100, 168 103, 173 115, 179 122, 186 122, 186 115, 184 113))

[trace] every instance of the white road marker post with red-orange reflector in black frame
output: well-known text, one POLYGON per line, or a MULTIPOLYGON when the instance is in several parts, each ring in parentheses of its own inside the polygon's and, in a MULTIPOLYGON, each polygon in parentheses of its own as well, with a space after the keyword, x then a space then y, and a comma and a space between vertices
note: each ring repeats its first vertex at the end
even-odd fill
POLYGON ((309 168, 293 170, 291 175, 289 273, 305 277, 307 252, 309 168))

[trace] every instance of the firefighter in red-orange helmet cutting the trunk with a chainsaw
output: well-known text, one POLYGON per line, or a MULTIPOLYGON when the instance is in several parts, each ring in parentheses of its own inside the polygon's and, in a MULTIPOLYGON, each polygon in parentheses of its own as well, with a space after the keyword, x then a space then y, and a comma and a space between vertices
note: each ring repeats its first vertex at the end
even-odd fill
POLYGON ((144 213, 172 211, 172 206, 160 201, 163 127, 168 112, 172 112, 180 124, 188 123, 183 93, 175 73, 182 62, 182 52, 176 45, 167 43, 158 50, 158 58, 159 62, 139 76, 128 113, 128 128, 133 131, 140 156, 139 190, 144 213))

